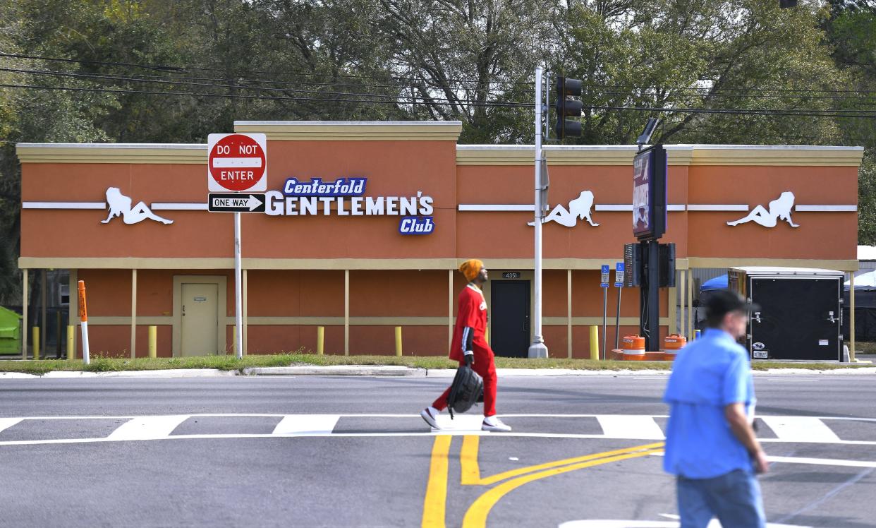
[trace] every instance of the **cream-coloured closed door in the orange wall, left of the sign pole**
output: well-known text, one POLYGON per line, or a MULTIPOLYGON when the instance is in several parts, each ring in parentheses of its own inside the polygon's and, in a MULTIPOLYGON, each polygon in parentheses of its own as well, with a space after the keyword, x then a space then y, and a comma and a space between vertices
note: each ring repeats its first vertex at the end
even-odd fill
POLYGON ((219 303, 217 284, 183 282, 182 343, 184 356, 205 356, 218 353, 219 303))

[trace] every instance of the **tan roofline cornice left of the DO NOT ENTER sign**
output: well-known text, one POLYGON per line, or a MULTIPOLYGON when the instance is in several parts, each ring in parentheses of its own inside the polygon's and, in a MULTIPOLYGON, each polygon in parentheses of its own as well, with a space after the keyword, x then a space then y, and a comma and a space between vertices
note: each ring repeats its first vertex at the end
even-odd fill
POLYGON ((207 146, 150 143, 18 143, 22 163, 174 163, 207 165, 207 146))

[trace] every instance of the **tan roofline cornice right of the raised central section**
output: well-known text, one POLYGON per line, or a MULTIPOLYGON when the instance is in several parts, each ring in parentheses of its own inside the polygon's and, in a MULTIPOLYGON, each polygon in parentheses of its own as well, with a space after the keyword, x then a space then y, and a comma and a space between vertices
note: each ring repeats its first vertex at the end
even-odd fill
MULTIPOLYGON (((864 156, 859 146, 758 146, 758 145, 667 145, 673 166, 830 166, 858 167, 864 156)), ((548 165, 625 165, 632 168, 638 151, 631 145, 545 146, 548 165)), ((534 163, 533 146, 460 145, 456 164, 528 165, 534 163)))

